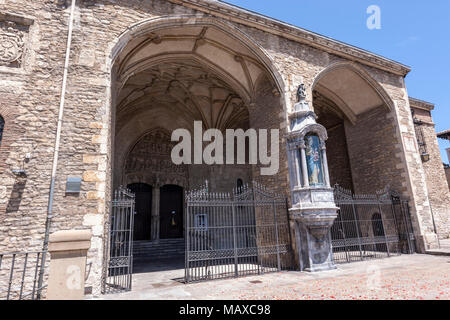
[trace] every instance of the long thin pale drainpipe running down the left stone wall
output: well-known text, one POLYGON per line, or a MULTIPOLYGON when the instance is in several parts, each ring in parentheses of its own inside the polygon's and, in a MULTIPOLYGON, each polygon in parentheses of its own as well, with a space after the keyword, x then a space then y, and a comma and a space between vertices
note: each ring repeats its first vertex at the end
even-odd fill
POLYGON ((56 139, 55 139, 55 151, 53 153, 53 167, 52 167, 52 176, 50 182, 50 193, 48 199, 48 207, 47 207, 47 220, 45 222, 45 236, 44 236, 44 244, 42 246, 42 258, 41 258, 41 270, 39 272, 39 281, 38 281, 38 294, 37 298, 41 298, 41 290, 42 290, 42 282, 44 280, 44 268, 45 260, 47 256, 48 249, 48 239, 50 235, 50 226, 53 218, 52 208, 53 208, 53 198, 55 193, 55 181, 56 181, 56 170, 58 167, 58 156, 59 156, 59 145, 61 141, 61 128, 63 122, 64 115, 64 101, 66 97, 66 88, 67 88, 67 74, 69 71, 69 60, 70 60, 70 47, 72 45, 72 31, 73 31, 73 17, 75 13, 75 4, 76 0, 72 0, 71 8, 70 8, 70 18, 69 18, 69 30, 67 36, 67 44, 66 44, 66 59, 64 62, 64 74, 63 74, 63 82, 61 87, 61 99, 59 103, 59 115, 58 115, 58 125, 56 129, 56 139))

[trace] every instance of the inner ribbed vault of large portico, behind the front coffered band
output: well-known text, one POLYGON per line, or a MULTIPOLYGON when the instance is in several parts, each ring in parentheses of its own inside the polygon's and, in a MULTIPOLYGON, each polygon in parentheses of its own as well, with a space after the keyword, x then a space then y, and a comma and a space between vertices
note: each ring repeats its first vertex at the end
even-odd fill
POLYGON ((176 115, 171 122, 188 129, 194 120, 202 121, 204 129, 248 127, 244 100, 215 73, 190 60, 155 65, 130 77, 119 101, 119 130, 148 112, 176 115))

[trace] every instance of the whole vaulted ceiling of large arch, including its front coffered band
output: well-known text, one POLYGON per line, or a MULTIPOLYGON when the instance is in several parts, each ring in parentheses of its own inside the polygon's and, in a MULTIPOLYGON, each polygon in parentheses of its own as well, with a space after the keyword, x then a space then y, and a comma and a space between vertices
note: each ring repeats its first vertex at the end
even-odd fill
POLYGON ((246 128, 247 106, 254 102, 258 84, 270 78, 242 41, 201 25, 136 37, 115 68, 117 134, 133 119, 134 129, 148 130, 143 121, 149 112, 168 130, 175 124, 191 129, 194 120, 205 129, 246 128))

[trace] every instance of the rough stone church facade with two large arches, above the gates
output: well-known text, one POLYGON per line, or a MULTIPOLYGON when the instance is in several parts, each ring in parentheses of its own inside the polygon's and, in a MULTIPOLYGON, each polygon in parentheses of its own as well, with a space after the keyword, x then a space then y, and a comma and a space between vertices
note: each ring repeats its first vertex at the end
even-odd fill
POLYGON ((389 185, 409 200, 419 252, 449 235, 433 106, 409 98, 409 67, 218 1, 79 0, 65 68, 71 9, 70 1, 0 0, 0 251, 42 247, 65 75, 50 232, 91 230, 94 293, 120 185, 151 186, 149 240, 163 232, 167 185, 208 180, 227 191, 257 179, 291 196, 287 136, 299 84, 328 132, 330 184, 354 193, 389 185), (175 166, 170 134, 192 132, 194 121, 204 130, 279 129, 278 173, 175 166), (66 192, 68 178, 81 178, 80 192, 66 192))

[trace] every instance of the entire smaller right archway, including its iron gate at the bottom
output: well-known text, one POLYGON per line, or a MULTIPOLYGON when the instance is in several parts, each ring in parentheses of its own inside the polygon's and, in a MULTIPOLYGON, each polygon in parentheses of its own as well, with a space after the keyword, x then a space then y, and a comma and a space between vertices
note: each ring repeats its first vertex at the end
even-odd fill
POLYGON ((401 253, 399 237, 410 231, 398 221, 409 213, 394 210, 389 193, 404 189, 391 99, 363 67, 347 62, 322 71, 312 89, 317 122, 328 133, 330 182, 339 185, 331 229, 335 262, 401 253))

